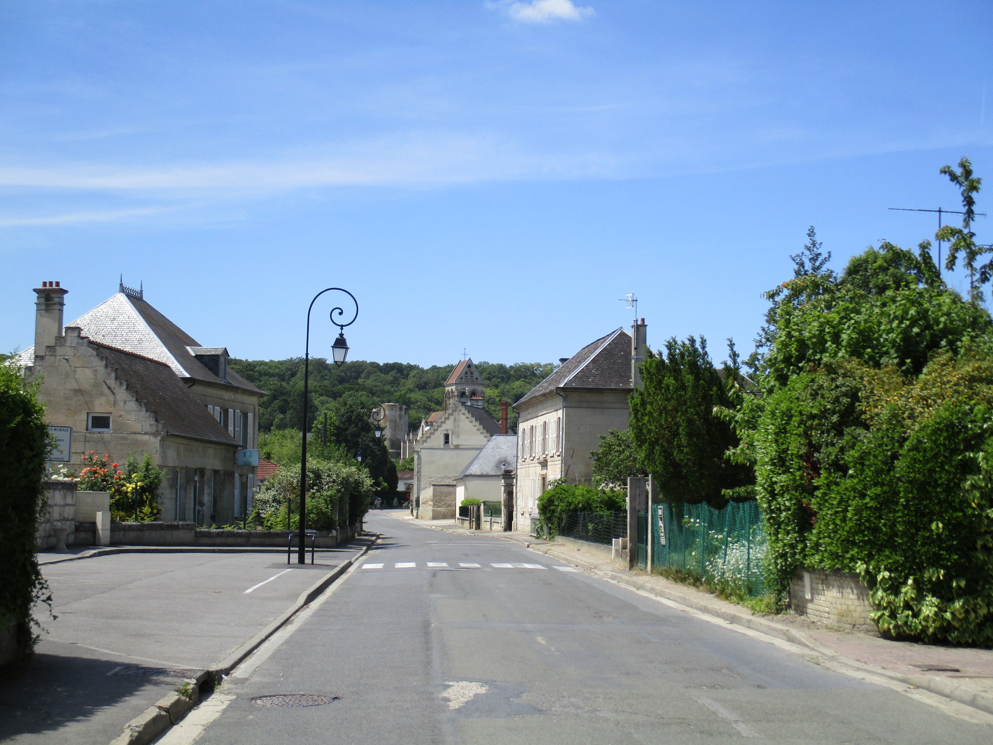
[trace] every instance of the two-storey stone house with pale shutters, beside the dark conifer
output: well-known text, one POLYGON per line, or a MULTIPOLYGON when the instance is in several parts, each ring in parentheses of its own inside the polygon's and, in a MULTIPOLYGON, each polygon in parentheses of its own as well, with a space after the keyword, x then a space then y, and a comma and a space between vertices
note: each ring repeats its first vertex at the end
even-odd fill
POLYGON ((516 529, 537 522, 538 497, 564 479, 590 484, 600 435, 628 429, 628 396, 638 385, 644 355, 644 320, 588 344, 513 404, 517 411, 516 529), (633 376, 635 381, 633 383, 633 376))

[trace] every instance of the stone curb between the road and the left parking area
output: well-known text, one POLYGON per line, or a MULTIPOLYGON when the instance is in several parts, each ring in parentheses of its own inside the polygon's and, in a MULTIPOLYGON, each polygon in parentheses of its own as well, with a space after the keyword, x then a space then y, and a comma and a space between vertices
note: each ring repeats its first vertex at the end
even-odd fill
MULTIPOLYGON (((196 706, 200 701, 200 690, 203 685, 213 687, 220 682, 227 673, 258 649, 269 637, 286 625, 297 613, 310 605, 318 598, 331 584, 341 577, 348 569, 355 564, 359 558, 368 553, 368 550, 376 544, 382 536, 379 533, 370 533, 371 540, 350 559, 343 561, 338 567, 325 577, 322 577, 309 588, 300 593, 297 601, 286 611, 280 614, 274 621, 266 626, 262 631, 253 636, 247 642, 238 647, 234 652, 223 658, 220 662, 214 663, 207 670, 198 671, 194 677, 184 678, 184 685, 192 690, 190 696, 186 696, 179 691, 171 691, 167 695, 156 701, 154 706, 149 706, 142 713, 124 725, 124 731, 111 740, 110 745, 147 745, 152 740, 161 736, 171 729, 175 724, 186 716, 187 712, 196 706)), ((110 549, 110 553, 125 553, 127 549, 110 549)), ((95 555, 73 556, 72 558, 86 558, 95 555)), ((99 555, 106 555, 100 553, 99 555)), ((63 559, 71 560, 71 559, 63 559)), ((56 562, 49 562, 56 563, 56 562)))

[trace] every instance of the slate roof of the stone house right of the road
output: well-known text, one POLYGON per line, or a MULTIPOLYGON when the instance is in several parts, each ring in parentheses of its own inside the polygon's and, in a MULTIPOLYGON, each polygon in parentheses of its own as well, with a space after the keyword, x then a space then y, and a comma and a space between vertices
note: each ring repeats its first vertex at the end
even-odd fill
POLYGON ((559 388, 631 390, 631 335, 617 329, 588 344, 525 393, 513 407, 559 388))

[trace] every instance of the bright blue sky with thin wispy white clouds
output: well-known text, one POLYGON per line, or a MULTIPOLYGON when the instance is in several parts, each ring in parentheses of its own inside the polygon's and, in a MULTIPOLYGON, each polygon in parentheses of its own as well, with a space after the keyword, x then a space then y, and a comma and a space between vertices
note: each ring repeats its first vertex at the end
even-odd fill
MULTIPOLYGON (((552 361, 629 325, 748 351, 816 226, 841 268, 989 181, 988 2, 8 0, 0 349, 125 282, 235 357, 552 361), (325 312, 330 311, 328 303, 325 312), (336 329, 315 322, 313 354, 336 329)), ((961 276, 949 280, 964 287, 961 276)))

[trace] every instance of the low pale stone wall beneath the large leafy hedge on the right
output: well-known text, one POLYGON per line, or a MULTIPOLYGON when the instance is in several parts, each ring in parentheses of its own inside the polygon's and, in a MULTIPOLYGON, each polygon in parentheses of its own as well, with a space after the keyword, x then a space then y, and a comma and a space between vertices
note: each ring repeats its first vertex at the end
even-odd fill
POLYGON ((853 572, 797 569, 789 582, 789 605, 801 615, 860 631, 875 631, 869 590, 853 572))

